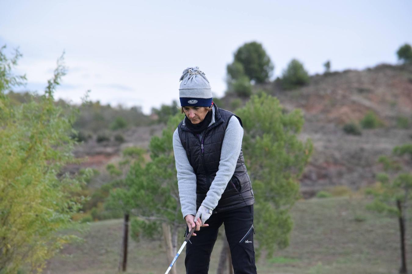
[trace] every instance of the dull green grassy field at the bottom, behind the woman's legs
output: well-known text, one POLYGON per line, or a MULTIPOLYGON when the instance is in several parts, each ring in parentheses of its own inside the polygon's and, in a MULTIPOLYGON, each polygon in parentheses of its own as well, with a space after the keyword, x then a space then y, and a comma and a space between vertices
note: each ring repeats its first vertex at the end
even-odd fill
MULTIPOLYGON (((258 261, 260 274, 389 274, 398 273, 400 249, 398 222, 368 212, 361 198, 302 200, 292 210, 295 227, 290 246, 275 258, 258 261)), ((407 233, 411 231, 407 223, 407 233)), ((179 242, 183 242, 183 233, 179 242)), ((262 233, 257 231, 256 233, 262 233)), ((91 223, 80 236, 83 243, 66 246, 49 261, 44 273, 116 273, 122 220, 91 223)), ((408 266, 412 269, 412 237, 408 237, 408 266)), ((157 240, 129 241, 128 272, 164 273, 169 265, 157 240)), ((179 243, 180 244, 180 243, 179 243)), ((209 273, 216 273, 222 242, 215 244, 209 273)), ((175 264, 185 273, 184 252, 175 264)))

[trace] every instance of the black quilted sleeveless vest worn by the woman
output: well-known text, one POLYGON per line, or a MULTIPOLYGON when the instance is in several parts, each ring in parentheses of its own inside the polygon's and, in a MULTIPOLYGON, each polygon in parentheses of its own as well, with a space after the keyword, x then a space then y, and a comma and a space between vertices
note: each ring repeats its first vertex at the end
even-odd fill
MULTIPOLYGON (((230 111, 219 109, 216 105, 213 105, 213 107, 215 108, 215 123, 203 132, 201 138, 198 134, 194 134, 186 127, 184 123, 185 119, 178 125, 180 141, 186 150, 187 159, 189 159, 189 163, 196 174, 197 209, 199 209, 206 197, 206 193, 219 169, 223 137, 225 137, 227 124, 234 115, 230 111)), ((240 124, 242 124, 240 118, 237 116, 236 118, 238 118, 240 124)), ((215 210, 213 210, 213 214, 246 205, 253 205, 254 202, 252 185, 241 150, 234 174, 220 197, 218 205, 215 210)))

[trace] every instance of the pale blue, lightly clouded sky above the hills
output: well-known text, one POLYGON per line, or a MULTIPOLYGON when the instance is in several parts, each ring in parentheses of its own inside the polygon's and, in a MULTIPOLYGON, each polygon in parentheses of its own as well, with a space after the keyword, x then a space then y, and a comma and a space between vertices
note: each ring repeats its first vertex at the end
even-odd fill
POLYGON ((186 67, 199 66, 214 97, 226 90, 237 48, 257 41, 274 63, 272 80, 300 60, 309 74, 397 64, 412 44, 412 1, 21 1, 0 0, 0 45, 23 57, 16 73, 42 93, 65 52, 56 98, 152 107, 179 97, 186 67))

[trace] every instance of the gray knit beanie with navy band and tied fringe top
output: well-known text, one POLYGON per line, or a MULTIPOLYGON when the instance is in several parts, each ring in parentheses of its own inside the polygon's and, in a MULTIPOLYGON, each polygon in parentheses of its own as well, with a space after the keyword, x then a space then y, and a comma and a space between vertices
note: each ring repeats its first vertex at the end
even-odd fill
POLYGON ((180 106, 211 106, 212 89, 199 67, 188 67, 180 76, 180 106))

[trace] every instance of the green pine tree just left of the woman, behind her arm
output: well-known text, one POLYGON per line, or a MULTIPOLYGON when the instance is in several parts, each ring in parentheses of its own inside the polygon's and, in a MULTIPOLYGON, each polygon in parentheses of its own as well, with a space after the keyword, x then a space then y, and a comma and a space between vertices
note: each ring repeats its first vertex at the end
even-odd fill
MULTIPOLYGON (((153 136, 150 140, 151 161, 146 165, 134 162, 125 185, 112 191, 108 200, 109 207, 122 208, 145 220, 145 225, 139 226, 141 229, 152 229, 153 222, 162 223, 169 262, 177 252, 178 230, 185 224, 180 210, 172 142, 173 132, 182 118, 180 113, 169 117, 162 136, 153 136)), ((176 270, 173 268, 171 273, 176 270)))

